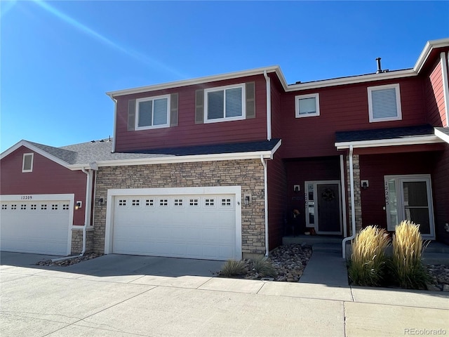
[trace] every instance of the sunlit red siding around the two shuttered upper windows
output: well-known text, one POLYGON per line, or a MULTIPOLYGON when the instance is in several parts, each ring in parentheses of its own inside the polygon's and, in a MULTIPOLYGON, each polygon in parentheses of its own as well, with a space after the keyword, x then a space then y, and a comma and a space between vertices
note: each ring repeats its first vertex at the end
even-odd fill
POLYGON ((125 95, 117 98, 116 151, 130 152, 161 147, 180 147, 219 143, 239 143, 267 139, 267 96, 263 75, 219 81, 201 86, 186 86, 151 93, 125 95), (195 91, 255 82, 255 119, 195 124, 195 91), (178 126, 142 131, 128 131, 128 100, 179 93, 178 126))

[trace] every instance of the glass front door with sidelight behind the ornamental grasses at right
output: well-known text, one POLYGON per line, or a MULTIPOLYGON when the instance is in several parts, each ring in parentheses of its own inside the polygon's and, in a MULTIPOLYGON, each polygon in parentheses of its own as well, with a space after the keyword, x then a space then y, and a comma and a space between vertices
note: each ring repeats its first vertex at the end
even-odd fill
POLYGON ((420 225, 425 239, 435 239, 429 175, 385 176, 387 228, 394 231, 402 220, 420 225))

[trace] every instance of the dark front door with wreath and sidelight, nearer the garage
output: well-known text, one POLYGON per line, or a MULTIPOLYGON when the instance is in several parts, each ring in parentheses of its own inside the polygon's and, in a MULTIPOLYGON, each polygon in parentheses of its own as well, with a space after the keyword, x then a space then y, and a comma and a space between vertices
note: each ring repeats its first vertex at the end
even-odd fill
POLYGON ((340 181, 306 181, 306 224, 318 234, 342 234, 340 181))

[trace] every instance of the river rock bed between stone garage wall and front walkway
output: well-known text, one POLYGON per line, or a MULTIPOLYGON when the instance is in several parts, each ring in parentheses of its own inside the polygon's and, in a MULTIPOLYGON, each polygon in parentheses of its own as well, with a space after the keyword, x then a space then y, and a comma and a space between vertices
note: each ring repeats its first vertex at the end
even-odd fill
POLYGON ((264 277, 254 270, 253 260, 243 260, 246 264, 245 279, 266 279, 279 282, 298 282, 304 268, 311 257, 311 246, 302 244, 290 244, 288 246, 279 246, 269 255, 269 262, 274 265, 277 277, 264 277))

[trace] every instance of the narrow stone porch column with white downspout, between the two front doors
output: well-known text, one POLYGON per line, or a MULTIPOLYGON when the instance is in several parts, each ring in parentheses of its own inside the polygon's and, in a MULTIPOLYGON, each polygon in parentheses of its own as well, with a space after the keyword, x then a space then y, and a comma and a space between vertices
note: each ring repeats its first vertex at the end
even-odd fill
MULTIPOLYGON (((354 166, 354 208, 356 214, 356 232, 362 229, 362 203, 360 194, 360 164, 358 154, 353 154, 352 165, 354 166)), ((347 199, 349 209, 349 235, 352 234, 352 208, 351 208, 351 176, 349 174, 349 155, 346 156, 347 173, 347 199)))

